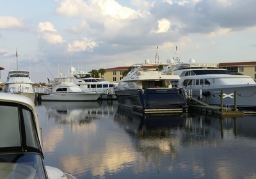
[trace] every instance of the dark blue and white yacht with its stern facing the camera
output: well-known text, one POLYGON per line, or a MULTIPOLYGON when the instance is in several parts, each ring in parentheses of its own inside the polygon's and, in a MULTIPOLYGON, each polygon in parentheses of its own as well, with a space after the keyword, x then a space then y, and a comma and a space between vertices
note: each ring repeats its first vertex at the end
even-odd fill
POLYGON ((178 88, 179 75, 161 72, 163 66, 175 65, 172 61, 132 65, 131 72, 115 87, 118 104, 141 113, 182 113, 187 110, 184 89, 178 88))

